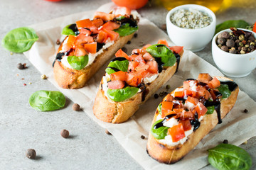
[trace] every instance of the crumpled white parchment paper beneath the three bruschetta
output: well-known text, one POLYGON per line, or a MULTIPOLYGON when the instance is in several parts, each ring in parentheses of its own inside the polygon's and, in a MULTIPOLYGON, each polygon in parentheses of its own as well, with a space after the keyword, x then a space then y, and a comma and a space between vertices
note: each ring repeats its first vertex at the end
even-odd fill
MULTIPOLYGON (((110 11, 112 4, 101 6, 97 11, 110 11)), ((53 61, 55 59, 58 45, 56 40, 62 38, 61 30, 63 27, 75 21, 92 18, 95 11, 86 11, 75 13, 62 18, 55 18, 44 23, 38 23, 31 26, 36 30, 39 40, 33 45, 31 50, 24 52, 28 60, 41 72, 46 74, 48 80, 56 86, 65 96, 70 98, 74 103, 79 103, 82 110, 97 122, 102 128, 107 128, 124 149, 139 163, 144 169, 201 169, 208 164, 207 149, 215 147, 223 140, 227 139, 234 145, 240 145, 250 137, 256 136, 256 103, 247 94, 240 91, 235 107, 223 119, 223 123, 217 125, 201 142, 180 162, 172 165, 160 164, 151 159, 146 153, 146 142, 149 135, 151 121, 154 117, 154 111, 161 101, 161 97, 155 99, 153 96, 149 101, 139 108, 132 118, 122 124, 110 124, 97 120, 92 112, 92 106, 97 94, 100 79, 105 74, 105 64, 95 76, 90 79, 82 89, 61 89, 53 78, 53 61), (248 113, 243 113, 244 109, 248 113), (144 135, 146 138, 142 140, 140 137, 144 135)), ((157 28, 154 23, 141 18, 139 22, 138 37, 132 39, 130 45, 126 45, 128 54, 134 48, 140 48, 145 44, 154 44, 159 39, 165 39, 172 45, 168 35, 157 28)), ((171 86, 169 92, 181 86, 183 81, 188 78, 197 78, 199 73, 208 72, 211 76, 223 76, 218 69, 201 59, 191 51, 185 51, 181 60, 178 72, 172 77, 167 84, 171 86)), ((164 91, 164 85, 157 93, 164 91)), ((42 87, 43 89, 43 87, 42 87)))

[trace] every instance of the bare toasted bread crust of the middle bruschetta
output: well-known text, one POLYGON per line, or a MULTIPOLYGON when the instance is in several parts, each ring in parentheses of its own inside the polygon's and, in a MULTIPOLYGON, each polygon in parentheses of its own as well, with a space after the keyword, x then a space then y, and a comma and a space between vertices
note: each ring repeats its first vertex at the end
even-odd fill
MULTIPOLYGON (((183 51, 179 54, 181 57, 183 51)), ((163 86, 174 75, 178 63, 172 67, 164 69, 151 84, 146 85, 146 89, 132 98, 122 102, 114 102, 108 99, 104 91, 99 89, 93 106, 93 113, 96 118, 107 123, 123 123, 128 120, 146 100, 149 99, 161 86, 163 86), (144 98, 144 101, 142 101, 144 98)))

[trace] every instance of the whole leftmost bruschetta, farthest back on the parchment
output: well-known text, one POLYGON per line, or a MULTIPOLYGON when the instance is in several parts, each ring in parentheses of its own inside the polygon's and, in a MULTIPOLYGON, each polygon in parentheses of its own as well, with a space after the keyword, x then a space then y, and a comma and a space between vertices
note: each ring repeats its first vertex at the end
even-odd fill
POLYGON ((64 89, 78 89, 132 39, 139 18, 118 7, 111 13, 96 12, 94 19, 76 21, 63 28, 67 35, 58 48, 53 72, 64 89))

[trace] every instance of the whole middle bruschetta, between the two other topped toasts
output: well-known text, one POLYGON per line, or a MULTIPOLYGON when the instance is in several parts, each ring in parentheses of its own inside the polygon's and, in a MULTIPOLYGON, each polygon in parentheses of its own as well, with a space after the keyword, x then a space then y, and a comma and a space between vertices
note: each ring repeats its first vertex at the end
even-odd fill
POLYGON ((107 123, 128 120, 178 69, 183 47, 169 47, 166 40, 132 50, 117 51, 102 77, 93 113, 107 123))

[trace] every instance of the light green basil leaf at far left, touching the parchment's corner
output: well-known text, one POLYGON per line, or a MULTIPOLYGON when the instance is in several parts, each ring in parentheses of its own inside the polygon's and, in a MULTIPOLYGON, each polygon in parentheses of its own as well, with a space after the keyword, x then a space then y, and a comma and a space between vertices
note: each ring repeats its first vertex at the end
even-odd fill
POLYGON ((21 27, 7 33, 2 42, 3 47, 11 52, 26 52, 38 40, 36 31, 32 28, 21 27))

